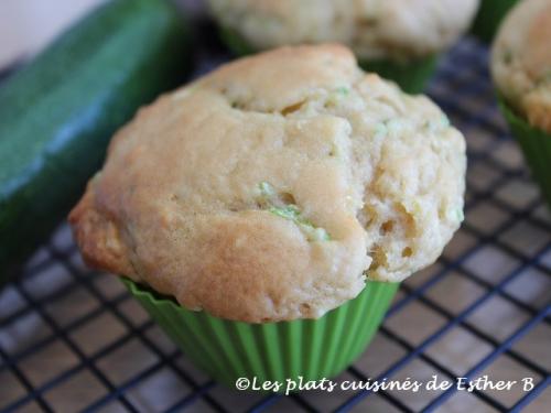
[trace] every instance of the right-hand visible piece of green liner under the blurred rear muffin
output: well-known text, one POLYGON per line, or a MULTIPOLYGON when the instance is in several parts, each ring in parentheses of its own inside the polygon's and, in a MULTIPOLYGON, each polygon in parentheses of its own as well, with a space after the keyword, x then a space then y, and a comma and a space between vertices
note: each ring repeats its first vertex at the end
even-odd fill
POLYGON ((403 63, 389 59, 360 59, 359 65, 366 72, 375 72, 386 79, 396 81, 408 94, 420 94, 436 70, 437 62, 437 56, 431 55, 403 63))

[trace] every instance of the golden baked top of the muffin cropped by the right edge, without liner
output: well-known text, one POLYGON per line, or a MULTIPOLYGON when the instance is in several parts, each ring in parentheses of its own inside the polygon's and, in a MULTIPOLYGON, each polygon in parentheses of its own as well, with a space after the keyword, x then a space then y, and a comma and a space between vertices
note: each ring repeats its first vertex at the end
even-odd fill
POLYGON ((491 75, 507 102, 551 133, 551 1, 523 0, 505 19, 491 52, 491 75))

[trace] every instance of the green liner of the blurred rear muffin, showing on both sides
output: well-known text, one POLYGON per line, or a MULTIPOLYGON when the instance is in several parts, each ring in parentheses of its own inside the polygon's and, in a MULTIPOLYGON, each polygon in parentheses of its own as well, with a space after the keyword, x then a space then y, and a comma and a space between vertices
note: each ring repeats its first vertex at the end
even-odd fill
MULTIPOLYGON (((223 42, 237 56, 258 52, 235 30, 220 26, 219 32, 223 42)), ((403 91, 409 94, 419 94, 424 90, 429 79, 434 74, 436 63, 436 55, 403 63, 390 59, 359 61, 364 70, 375 72, 386 79, 396 81, 403 91)))

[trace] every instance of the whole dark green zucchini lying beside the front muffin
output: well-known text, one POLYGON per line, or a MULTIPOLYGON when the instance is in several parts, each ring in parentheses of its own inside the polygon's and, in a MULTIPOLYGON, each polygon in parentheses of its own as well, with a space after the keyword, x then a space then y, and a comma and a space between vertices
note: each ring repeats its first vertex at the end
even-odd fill
POLYGON ((0 87, 0 285, 66 217, 115 131, 181 84, 190 33, 165 0, 112 0, 0 87))

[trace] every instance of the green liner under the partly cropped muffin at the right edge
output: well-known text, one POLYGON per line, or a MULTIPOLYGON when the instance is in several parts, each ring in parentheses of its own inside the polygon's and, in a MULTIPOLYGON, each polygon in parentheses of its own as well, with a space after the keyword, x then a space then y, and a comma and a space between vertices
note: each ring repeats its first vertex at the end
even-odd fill
POLYGON ((538 182, 548 206, 551 207, 551 134, 530 126, 503 98, 498 101, 514 137, 522 149, 532 176, 538 182))

